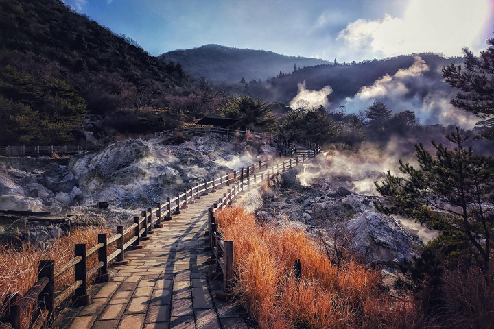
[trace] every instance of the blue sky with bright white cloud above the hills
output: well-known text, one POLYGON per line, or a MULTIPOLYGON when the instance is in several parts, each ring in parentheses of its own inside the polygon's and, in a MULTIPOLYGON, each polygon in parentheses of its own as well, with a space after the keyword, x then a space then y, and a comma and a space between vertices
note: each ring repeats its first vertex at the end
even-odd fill
POLYGON ((338 62, 460 56, 493 36, 494 0, 64 0, 157 56, 209 43, 338 62))

